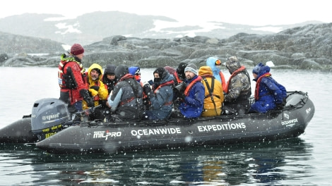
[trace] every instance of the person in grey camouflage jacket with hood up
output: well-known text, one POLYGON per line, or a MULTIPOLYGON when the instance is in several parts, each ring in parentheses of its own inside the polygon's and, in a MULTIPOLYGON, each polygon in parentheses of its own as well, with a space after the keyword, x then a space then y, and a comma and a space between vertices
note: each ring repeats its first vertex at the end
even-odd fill
POLYGON ((251 82, 249 73, 244 66, 241 66, 236 56, 228 58, 225 66, 231 74, 225 90, 225 113, 244 114, 250 108, 251 82))

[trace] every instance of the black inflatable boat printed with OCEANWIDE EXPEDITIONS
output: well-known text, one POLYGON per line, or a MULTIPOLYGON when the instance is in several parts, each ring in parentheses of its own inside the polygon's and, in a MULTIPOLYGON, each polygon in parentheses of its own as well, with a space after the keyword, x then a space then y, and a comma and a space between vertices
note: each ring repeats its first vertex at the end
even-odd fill
MULTIPOLYGON (((57 107, 59 109, 61 106, 57 107)), ((287 92, 287 104, 282 110, 191 120, 171 118, 163 121, 119 123, 81 120, 72 125, 73 121, 68 120, 66 114, 61 112, 47 111, 47 116, 34 116, 33 111, 32 109, 30 120, 23 118, 12 124, 16 128, 11 131, 19 130, 18 125, 24 125, 25 132, 18 132, 19 135, 16 137, 8 137, 7 133, 7 137, 4 137, 3 131, 0 130, 0 142, 6 141, 4 139, 7 139, 6 142, 11 140, 11 142, 35 142, 37 148, 52 154, 116 153, 144 149, 267 142, 300 136, 314 116, 315 108, 307 93, 295 91, 287 92), (33 127, 34 120, 35 123, 38 122, 37 125, 40 125, 41 120, 57 122, 51 128, 36 129, 33 127), (66 124, 61 124, 64 120, 71 125, 64 127, 66 124)))

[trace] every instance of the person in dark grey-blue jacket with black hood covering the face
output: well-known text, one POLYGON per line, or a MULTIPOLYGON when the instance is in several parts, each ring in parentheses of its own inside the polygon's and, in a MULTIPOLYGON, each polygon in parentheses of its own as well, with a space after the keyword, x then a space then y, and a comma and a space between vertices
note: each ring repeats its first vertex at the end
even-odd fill
POLYGON ((142 120, 165 120, 170 117, 173 107, 173 77, 165 68, 157 68, 153 72, 153 89, 148 82, 143 91, 150 100, 150 108, 143 113, 142 120))

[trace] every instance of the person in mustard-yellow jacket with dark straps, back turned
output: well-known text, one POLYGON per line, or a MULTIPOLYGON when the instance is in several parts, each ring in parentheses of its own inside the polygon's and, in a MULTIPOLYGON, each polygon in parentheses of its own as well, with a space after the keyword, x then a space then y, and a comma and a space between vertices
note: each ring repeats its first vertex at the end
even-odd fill
POLYGON ((202 66, 198 70, 205 87, 204 106, 201 117, 220 116, 224 101, 223 86, 213 76, 211 67, 202 66))

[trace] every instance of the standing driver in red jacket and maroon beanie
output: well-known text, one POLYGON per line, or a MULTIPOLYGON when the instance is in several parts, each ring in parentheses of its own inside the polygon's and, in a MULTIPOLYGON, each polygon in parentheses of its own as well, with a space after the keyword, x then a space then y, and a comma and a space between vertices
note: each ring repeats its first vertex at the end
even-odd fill
POLYGON ((81 44, 73 44, 69 56, 61 55, 59 63, 60 100, 68 104, 69 112, 83 111, 82 101, 94 106, 92 97, 85 87, 84 68, 81 63, 84 49, 81 44))

